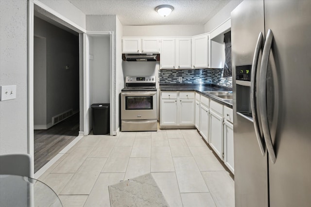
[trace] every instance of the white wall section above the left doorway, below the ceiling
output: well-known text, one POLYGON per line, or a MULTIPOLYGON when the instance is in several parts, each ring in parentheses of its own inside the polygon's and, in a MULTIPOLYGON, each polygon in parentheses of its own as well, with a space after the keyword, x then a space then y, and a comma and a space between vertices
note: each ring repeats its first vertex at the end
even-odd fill
POLYGON ((68 0, 39 0, 60 15, 68 18, 82 28, 86 28, 86 15, 68 0))

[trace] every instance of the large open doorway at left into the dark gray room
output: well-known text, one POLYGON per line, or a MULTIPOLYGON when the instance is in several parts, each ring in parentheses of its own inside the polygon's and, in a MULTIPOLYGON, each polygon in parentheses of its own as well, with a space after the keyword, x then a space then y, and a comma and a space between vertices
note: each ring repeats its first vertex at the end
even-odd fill
POLYGON ((34 172, 79 135, 79 34, 34 17, 34 172))

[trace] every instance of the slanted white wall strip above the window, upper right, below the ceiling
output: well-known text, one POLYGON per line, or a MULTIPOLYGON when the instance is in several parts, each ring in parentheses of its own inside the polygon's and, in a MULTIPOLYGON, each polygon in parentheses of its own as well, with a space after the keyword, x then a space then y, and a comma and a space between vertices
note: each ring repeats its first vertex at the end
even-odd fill
POLYGON ((231 0, 223 9, 213 16, 205 25, 204 32, 211 32, 220 24, 231 17, 231 11, 234 10, 243 0, 231 0))

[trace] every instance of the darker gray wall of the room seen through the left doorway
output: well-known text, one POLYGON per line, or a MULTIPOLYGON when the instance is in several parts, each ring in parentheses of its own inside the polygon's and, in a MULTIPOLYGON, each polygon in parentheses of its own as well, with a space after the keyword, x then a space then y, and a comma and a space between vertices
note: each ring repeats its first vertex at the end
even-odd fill
MULTIPOLYGON (((55 115, 79 110, 79 37, 37 17, 34 20, 34 34, 45 37, 47 44, 46 117, 50 124, 55 115)), ((42 100, 40 96, 34 94, 34 105, 42 100)))

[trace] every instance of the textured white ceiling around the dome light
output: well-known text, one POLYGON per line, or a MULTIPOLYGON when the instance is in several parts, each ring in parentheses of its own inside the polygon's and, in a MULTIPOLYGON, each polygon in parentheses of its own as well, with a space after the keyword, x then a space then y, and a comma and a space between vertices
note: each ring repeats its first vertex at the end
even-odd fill
POLYGON ((122 25, 204 25, 230 0, 69 0, 86 15, 117 15, 122 25), (155 7, 169 4, 163 17, 155 7))

